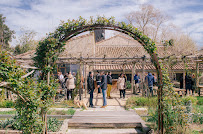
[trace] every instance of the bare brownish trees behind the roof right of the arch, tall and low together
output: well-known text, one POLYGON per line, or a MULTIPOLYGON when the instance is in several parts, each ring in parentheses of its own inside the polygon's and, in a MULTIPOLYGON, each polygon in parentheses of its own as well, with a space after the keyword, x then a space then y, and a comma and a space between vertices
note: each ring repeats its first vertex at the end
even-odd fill
POLYGON ((141 5, 138 11, 127 14, 126 19, 153 41, 164 46, 170 45, 170 50, 165 49, 166 51, 169 50, 175 55, 195 54, 197 51, 195 42, 187 34, 174 24, 167 22, 170 16, 152 5, 141 5))

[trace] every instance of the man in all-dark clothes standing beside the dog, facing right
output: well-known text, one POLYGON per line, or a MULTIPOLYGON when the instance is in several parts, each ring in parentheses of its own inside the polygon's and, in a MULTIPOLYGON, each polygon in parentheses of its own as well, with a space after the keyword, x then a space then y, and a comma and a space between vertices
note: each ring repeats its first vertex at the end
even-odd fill
POLYGON ((88 87, 88 91, 89 91, 89 94, 90 94, 90 105, 89 107, 92 107, 92 108, 95 108, 94 105, 93 105, 93 93, 94 93, 94 74, 93 72, 89 72, 89 76, 87 78, 87 87, 88 87))

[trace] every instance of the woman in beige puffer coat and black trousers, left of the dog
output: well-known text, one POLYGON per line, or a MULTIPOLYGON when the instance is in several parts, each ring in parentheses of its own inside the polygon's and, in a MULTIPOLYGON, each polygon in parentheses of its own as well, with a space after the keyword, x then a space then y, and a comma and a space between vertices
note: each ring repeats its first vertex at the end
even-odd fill
POLYGON ((75 89, 75 81, 71 72, 68 73, 68 79, 66 81, 67 87, 67 99, 73 99, 73 90, 75 89))

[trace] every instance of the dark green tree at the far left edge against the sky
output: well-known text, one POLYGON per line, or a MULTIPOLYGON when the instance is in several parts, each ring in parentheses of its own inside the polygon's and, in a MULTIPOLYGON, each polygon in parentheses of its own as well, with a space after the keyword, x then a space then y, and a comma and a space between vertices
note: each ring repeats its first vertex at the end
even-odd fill
POLYGON ((0 14, 0 46, 3 49, 9 49, 9 42, 14 37, 14 31, 5 24, 6 17, 3 17, 3 14, 0 14))

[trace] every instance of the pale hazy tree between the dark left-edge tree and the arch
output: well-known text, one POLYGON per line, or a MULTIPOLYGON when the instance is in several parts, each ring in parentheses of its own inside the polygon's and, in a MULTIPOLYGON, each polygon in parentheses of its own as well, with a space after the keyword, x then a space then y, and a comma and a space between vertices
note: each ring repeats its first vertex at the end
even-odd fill
POLYGON ((38 44, 38 41, 34 39, 36 36, 35 31, 21 29, 21 32, 22 35, 20 36, 18 43, 14 48, 15 54, 21 54, 29 50, 34 50, 38 44))

